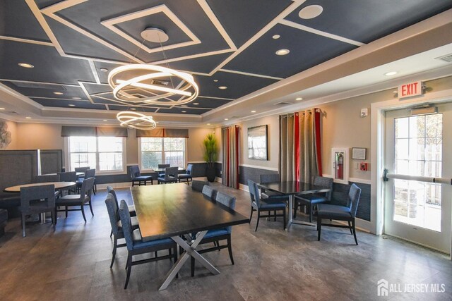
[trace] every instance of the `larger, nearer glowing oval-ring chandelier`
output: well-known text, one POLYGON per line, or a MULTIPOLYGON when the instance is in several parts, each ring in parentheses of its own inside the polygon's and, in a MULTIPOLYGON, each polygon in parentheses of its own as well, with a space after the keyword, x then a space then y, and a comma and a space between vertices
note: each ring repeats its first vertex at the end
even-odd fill
POLYGON ((108 83, 115 98, 131 104, 175 106, 191 102, 199 94, 198 85, 189 73, 147 64, 114 68, 108 75, 108 83), (177 87, 167 87, 173 82, 177 82, 177 87), (137 97, 128 92, 136 89, 145 90, 150 95, 137 97), (174 95, 177 97, 170 98, 174 95))

